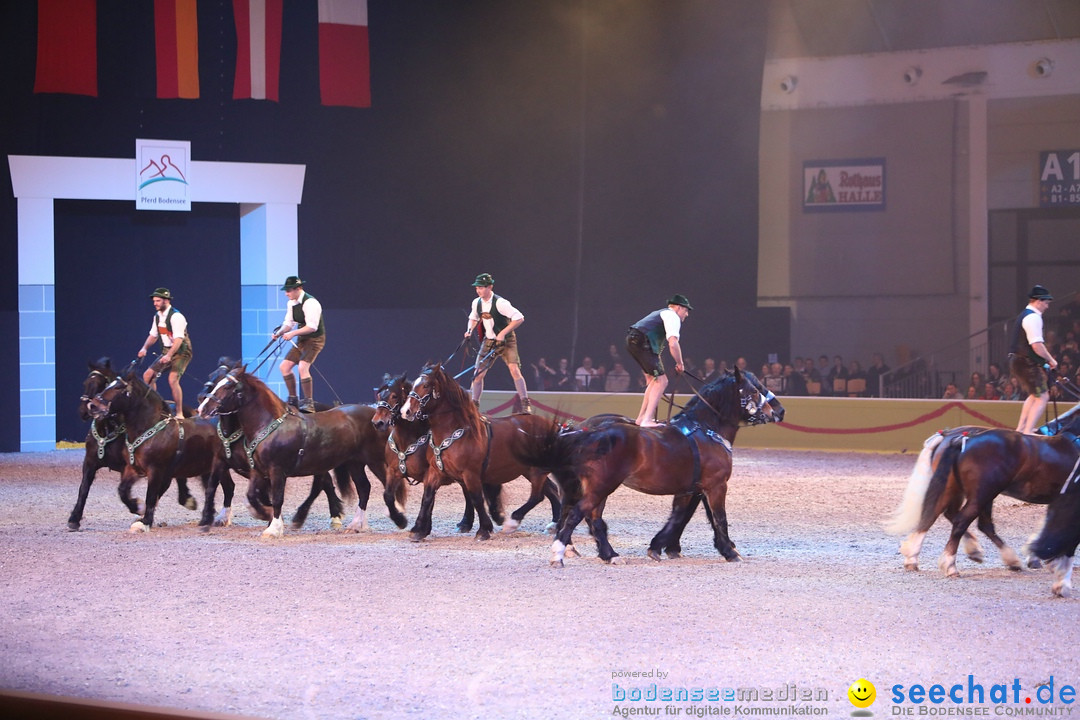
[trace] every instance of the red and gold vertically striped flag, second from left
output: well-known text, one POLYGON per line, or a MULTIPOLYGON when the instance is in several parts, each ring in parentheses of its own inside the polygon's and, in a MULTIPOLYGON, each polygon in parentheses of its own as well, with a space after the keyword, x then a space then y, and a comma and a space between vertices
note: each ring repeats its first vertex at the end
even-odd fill
POLYGON ((195 0, 153 0, 158 97, 199 97, 195 0))

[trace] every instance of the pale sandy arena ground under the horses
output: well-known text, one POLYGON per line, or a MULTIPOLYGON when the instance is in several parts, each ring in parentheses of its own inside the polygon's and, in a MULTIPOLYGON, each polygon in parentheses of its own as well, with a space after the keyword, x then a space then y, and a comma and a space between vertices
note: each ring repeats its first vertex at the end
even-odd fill
MULTIPOLYGON (((800 705, 818 717, 850 717, 860 678, 877 688, 877 717, 896 714, 894 684, 1080 684, 1080 602, 1054 599, 1048 571, 1010 572, 984 541, 987 562, 961 556, 962 576, 946 580, 943 522, 923 570, 902 570, 880 521, 910 454, 737 447, 728 513, 744 562, 723 561, 701 511, 684 559, 649 561, 669 500, 623 489, 606 517, 627 563, 600 562, 579 530, 584 557, 561 570, 548 566, 546 506, 481 543, 455 532, 455 488, 420 544, 376 500, 365 534, 330 531, 323 500, 283 540, 260 540, 242 505, 232 527, 203 533, 175 489, 161 527, 132 535, 119 476, 102 471, 82 531, 69 532, 81 461, 0 456, 0 688, 260 718, 529 719, 793 705, 616 701, 653 682, 774 697, 794 684, 827 696, 800 705)), ((289 481, 286 517, 307 486, 289 481)), ((511 484, 508 505, 526 494, 511 484)), ((1007 499, 995 515, 1015 547, 1041 516, 1007 499)))

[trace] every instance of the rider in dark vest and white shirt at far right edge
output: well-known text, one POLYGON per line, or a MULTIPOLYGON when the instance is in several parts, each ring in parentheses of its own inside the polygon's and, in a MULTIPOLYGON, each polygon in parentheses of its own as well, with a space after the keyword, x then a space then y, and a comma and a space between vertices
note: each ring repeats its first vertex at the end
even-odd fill
POLYGON ((1057 367, 1057 361, 1050 354, 1042 338, 1042 313, 1050 308, 1054 296, 1042 285, 1036 285, 1028 293, 1028 303, 1016 317, 1013 326, 1012 343, 1009 345, 1009 369, 1020 380, 1028 396, 1020 411, 1020 422, 1016 432, 1034 435, 1039 424, 1042 411, 1047 409, 1050 399, 1047 373, 1043 365, 1051 370, 1057 367))

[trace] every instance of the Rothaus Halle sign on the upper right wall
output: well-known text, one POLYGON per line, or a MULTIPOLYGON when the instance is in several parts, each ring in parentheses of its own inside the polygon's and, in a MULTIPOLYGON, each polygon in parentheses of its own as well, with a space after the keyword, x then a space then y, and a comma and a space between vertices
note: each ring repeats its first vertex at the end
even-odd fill
POLYGON ((802 212, 885 209, 885 158, 802 163, 802 212))

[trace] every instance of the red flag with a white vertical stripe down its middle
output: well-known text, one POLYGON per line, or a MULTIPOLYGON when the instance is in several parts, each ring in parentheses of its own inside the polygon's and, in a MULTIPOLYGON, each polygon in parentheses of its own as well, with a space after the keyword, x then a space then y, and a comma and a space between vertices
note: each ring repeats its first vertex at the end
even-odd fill
POLYGON ((237 17, 234 99, 278 100, 282 0, 232 0, 237 17))

